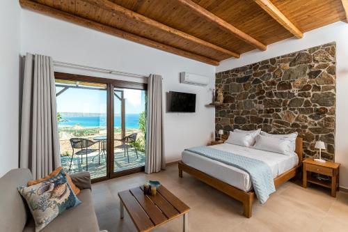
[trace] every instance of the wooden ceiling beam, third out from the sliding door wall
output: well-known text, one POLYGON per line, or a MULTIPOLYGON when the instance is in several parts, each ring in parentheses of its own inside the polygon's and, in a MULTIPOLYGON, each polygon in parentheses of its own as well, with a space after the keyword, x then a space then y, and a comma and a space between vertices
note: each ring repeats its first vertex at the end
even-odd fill
POLYGON ((177 0, 178 2, 182 3, 183 6, 189 8, 191 11, 199 15, 200 17, 204 17, 209 22, 212 22, 219 26, 221 29, 228 31, 229 33, 232 33, 234 36, 237 36, 240 40, 243 40, 244 42, 247 42, 249 45, 252 45, 253 47, 256 47, 262 51, 265 51, 267 49, 267 46, 264 45, 262 42, 256 40, 255 38, 249 36, 248 34, 244 33, 243 31, 237 29, 235 26, 232 26, 225 20, 221 19, 220 17, 214 15, 209 10, 206 10, 202 6, 198 5, 197 3, 191 1, 191 0, 177 0))

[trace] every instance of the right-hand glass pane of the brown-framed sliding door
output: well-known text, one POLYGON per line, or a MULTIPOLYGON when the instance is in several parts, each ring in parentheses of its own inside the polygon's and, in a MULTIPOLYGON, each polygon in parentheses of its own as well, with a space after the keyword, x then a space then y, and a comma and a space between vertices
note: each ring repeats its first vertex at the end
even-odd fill
POLYGON ((113 89, 113 172, 145 165, 145 90, 113 89))

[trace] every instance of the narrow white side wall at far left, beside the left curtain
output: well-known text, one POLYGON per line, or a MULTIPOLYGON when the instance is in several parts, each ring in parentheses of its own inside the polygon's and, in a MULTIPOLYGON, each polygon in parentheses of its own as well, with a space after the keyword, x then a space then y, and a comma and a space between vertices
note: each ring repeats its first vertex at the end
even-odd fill
POLYGON ((6 0, 0 8, 0 176, 18 167, 19 49, 18 1, 6 0))

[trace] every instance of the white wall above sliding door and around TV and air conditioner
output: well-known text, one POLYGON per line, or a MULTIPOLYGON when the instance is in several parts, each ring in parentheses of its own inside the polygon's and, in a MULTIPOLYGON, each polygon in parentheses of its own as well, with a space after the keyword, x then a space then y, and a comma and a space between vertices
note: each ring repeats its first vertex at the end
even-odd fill
MULTIPOLYGON (((22 11, 22 54, 26 52, 52 56, 56 61, 110 68, 164 78, 164 92, 183 91, 197 94, 195 114, 164 114, 166 161, 180 160, 189 146, 206 144, 214 132, 214 109, 211 102, 215 67, 116 38, 99 31, 70 24, 30 10, 22 11), (207 87, 180 84, 179 72, 193 72, 210 77, 207 87)), ((67 71, 64 68, 57 68, 67 71)), ((84 70, 70 72, 114 79, 143 82, 142 79, 103 75, 84 70)))

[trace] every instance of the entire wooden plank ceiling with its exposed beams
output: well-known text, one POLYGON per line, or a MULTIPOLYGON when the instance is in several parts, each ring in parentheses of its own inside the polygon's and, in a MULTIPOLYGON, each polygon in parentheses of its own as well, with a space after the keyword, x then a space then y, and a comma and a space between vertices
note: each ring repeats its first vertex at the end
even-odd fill
POLYGON ((212 65, 340 20, 347 0, 19 0, 22 7, 212 65))

